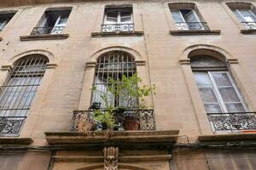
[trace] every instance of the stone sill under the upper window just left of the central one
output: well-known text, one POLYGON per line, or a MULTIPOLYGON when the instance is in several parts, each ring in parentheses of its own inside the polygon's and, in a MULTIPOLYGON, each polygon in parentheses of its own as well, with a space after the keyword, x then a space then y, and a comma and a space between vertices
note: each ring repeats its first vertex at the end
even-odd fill
POLYGON ((69 34, 41 34, 41 35, 29 35, 20 36, 20 41, 34 41, 34 40, 56 40, 56 39, 67 39, 69 34))

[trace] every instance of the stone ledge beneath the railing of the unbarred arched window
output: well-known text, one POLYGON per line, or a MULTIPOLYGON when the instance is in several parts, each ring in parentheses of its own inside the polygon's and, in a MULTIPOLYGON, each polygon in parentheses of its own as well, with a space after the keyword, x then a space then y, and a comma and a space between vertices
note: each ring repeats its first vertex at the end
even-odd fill
POLYGON ((237 142, 256 140, 256 133, 212 134, 198 137, 200 142, 237 142))

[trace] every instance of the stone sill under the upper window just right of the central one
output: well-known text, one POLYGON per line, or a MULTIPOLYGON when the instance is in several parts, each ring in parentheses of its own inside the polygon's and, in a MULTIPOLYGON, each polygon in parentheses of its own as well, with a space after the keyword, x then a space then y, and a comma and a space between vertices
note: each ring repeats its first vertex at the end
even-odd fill
POLYGON ((172 36, 219 35, 220 30, 171 30, 172 36))

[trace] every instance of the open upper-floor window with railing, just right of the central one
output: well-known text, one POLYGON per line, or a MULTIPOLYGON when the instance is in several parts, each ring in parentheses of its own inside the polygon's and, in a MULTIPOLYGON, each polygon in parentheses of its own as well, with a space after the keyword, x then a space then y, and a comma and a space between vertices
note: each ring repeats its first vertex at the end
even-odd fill
POLYGON ((194 3, 171 3, 169 8, 178 30, 209 30, 194 3))

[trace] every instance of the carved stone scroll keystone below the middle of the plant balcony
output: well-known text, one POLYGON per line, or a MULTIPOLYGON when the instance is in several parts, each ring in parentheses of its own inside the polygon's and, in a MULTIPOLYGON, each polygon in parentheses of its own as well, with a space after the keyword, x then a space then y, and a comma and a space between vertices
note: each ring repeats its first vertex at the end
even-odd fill
POLYGON ((118 147, 105 147, 104 153, 104 170, 118 170, 118 147))

